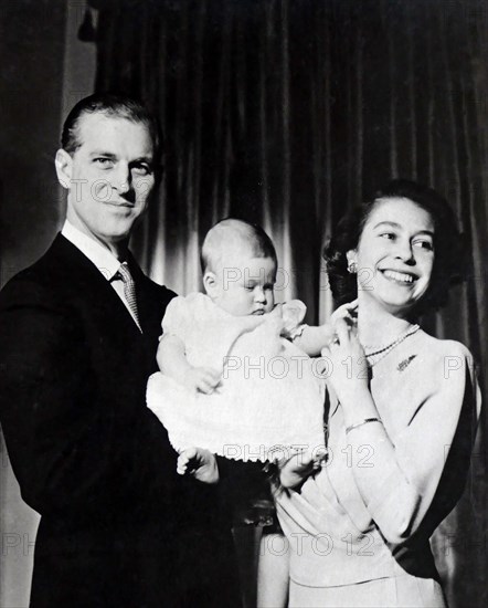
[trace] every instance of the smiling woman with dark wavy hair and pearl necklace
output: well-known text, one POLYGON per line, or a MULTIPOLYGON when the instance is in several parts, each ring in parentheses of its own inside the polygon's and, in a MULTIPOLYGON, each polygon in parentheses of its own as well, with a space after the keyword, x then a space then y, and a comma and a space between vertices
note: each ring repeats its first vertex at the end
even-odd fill
POLYGON ((418 326, 462 266, 442 197, 397 180, 326 250, 338 303, 329 359, 329 459, 277 497, 291 553, 289 606, 445 606, 429 536, 458 501, 479 416, 469 352, 418 326))

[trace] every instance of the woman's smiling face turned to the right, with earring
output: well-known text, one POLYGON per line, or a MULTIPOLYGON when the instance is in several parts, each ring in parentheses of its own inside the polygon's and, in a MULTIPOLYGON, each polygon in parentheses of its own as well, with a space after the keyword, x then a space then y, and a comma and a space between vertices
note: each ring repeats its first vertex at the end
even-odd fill
POLYGON ((389 312, 402 313, 425 295, 434 255, 431 214, 410 199, 382 198, 348 260, 357 262, 360 298, 373 298, 389 312))

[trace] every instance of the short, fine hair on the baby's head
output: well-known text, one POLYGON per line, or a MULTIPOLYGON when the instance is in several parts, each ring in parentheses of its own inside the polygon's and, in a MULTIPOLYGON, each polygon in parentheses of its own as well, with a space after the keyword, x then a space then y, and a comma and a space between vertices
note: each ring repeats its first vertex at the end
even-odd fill
POLYGON ((216 272, 230 260, 233 251, 248 251, 254 258, 270 258, 278 265, 275 245, 266 232, 256 223, 227 218, 214 224, 202 244, 201 264, 203 273, 216 272))

